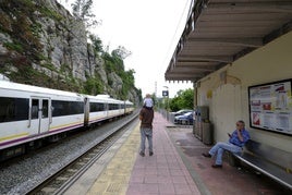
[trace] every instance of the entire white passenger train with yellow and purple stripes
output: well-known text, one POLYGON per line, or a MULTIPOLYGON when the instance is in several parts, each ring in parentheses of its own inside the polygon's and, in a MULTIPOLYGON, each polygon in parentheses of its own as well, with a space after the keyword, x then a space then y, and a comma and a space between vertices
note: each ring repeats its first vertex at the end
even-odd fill
POLYGON ((133 112, 133 102, 0 81, 0 160, 68 131, 133 112))

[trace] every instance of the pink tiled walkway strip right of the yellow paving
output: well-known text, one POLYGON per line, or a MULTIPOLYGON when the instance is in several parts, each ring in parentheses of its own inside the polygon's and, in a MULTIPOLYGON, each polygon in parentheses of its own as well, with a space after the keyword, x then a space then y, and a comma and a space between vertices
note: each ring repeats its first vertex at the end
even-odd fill
POLYGON ((154 156, 138 156, 129 183, 127 195, 199 194, 191 174, 166 132, 170 125, 159 113, 154 120, 154 156))

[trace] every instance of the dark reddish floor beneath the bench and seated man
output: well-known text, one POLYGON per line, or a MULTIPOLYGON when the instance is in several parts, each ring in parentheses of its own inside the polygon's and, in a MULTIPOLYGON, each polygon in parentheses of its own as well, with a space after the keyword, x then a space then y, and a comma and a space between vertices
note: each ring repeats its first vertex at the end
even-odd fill
POLYGON ((235 168, 223 162, 222 169, 214 169, 215 159, 205 158, 202 153, 209 150, 210 146, 204 145, 194 137, 192 129, 168 127, 173 143, 178 148, 188 172, 202 194, 212 195, 285 195, 292 194, 280 184, 265 175, 255 174, 247 167, 235 168))

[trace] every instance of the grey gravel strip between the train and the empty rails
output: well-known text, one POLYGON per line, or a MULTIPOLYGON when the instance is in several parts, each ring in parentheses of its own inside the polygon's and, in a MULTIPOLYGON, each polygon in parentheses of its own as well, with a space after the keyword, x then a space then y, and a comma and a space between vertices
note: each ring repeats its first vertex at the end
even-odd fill
POLYGON ((81 133, 35 151, 29 158, 20 158, 17 162, 0 168, 0 194, 25 194, 46 178, 60 170, 92 146, 100 143, 106 134, 133 118, 134 114, 106 123, 95 130, 81 133))

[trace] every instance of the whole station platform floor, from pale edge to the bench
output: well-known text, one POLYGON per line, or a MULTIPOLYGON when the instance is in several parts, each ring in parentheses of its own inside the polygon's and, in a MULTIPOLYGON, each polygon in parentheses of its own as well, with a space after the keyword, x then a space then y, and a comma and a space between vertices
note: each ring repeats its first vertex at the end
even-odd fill
MULTIPOLYGON (((284 194, 277 183, 246 169, 223 163, 211 168, 212 159, 202 153, 210 146, 194 137, 191 127, 175 126, 160 113, 154 119, 154 156, 138 155, 139 123, 127 131, 64 194, 284 194)), ((147 142, 146 142, 147 146, 147 142)))

